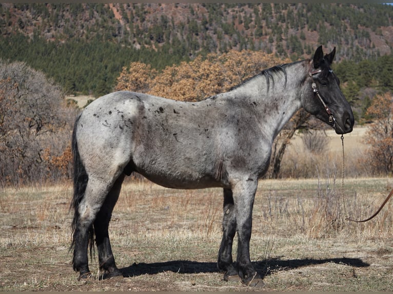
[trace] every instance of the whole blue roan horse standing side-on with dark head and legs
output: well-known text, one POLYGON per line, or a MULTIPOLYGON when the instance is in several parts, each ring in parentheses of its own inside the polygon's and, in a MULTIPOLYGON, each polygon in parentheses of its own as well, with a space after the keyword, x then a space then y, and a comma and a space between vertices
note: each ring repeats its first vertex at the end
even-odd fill
POLYGON ((94 235, 100 267, 109 277, 122 275, 108 225, 125 175, 137 172, 165 187, 222 187, 218 268, 225 280, 239 275, 245 284, 263 284, 250 261, 251 217, 274 138, 302 107, 338 134, 352 131, 352 110, 330 69, 335 51, 324 56, 320 46, 311 59, 264 70, 200 102, 124 91, 89 104, 72 135, 73 268, 79 278, 91 276, 88 245, 93 246, 94 235), (238 253, 233 263, 235 233, 238 253))

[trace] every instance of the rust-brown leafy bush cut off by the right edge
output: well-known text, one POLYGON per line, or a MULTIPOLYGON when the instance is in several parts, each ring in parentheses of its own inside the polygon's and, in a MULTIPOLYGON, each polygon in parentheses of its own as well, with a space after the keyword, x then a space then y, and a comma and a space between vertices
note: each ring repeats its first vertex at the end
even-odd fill
POLYGON ((390 92, 377 95, 366 112, 373 122, 366 133, 370 147, 364 159, 376 174, 393 172, 393 97, 390 92))

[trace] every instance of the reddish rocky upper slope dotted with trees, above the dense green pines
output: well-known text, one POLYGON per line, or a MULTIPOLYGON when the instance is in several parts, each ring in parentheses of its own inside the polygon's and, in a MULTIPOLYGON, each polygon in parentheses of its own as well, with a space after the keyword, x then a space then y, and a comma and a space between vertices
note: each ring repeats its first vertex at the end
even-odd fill
POLYGON ((98 37, 176 54, 251 49, 298 58, 336 46, 340 59, 389 54, 393 7, 382 4, 2 4, 3 36, 98 37))

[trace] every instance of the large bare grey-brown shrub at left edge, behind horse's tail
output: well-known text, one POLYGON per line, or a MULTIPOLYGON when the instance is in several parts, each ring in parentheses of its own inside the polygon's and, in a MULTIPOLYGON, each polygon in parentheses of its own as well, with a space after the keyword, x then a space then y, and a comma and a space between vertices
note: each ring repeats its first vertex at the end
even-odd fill
POLYGON ((0 61, 0 185, 69 174, 53 161, 70 144, 76 110, 65 104, 60 87, 42 72, 0 61))

